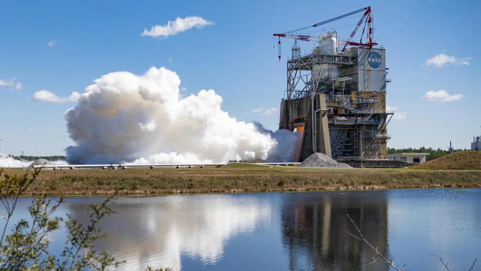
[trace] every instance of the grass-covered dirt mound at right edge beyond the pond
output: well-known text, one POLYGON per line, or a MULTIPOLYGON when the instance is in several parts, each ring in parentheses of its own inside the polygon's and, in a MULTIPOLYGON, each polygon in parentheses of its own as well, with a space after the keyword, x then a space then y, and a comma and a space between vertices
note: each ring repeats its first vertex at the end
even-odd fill
POLYGON ((413 169, 481 170, 481 151, 462 151, 416 165, 413 169))

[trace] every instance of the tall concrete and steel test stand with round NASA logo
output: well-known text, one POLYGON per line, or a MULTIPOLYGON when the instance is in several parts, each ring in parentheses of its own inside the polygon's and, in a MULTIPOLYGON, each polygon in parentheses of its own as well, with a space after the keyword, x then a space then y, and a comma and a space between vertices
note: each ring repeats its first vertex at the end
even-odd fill
POLYGON ((299 133, 296 162, 318 152, 339 160, 360 160, 361 165, 362 160, 386 160, 386 143, 391 138, 387 124, 394 112, 386 111, 386 84, 390 82, 386 50, 373 42, 371 8, 311 27, 274 34, 279 44, 281 38, 294 39, 279 128, 299 133), (340 41, 336 31, 320 36, 296 34, 362 12, 347 41, 340 41), (362 42, 363 35, 360 42, 353 42, 363 22, 367 42, 362 42), (317 45, 303 55, 298 41, 317 45))

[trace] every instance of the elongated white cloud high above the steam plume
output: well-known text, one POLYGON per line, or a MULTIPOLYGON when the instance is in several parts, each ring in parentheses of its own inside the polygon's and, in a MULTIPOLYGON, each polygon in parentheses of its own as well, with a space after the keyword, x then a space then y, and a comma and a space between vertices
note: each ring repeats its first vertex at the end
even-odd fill
POLYGON ((166 25, 153 26, 150 29, 150 31, 147 29, 144 29, 144 32, 142 32, 141 36, 167 38, 168 36, 172 36, 177 33, 184 32, 194 27, 197 29, 201 29, 205 26, 210 26, 213 24, 214 24, 213 22, 206 21, 202 17, 198 17, 198 16, 191 16, 191 17, 185 17, 185 18, 177 17, 175 21, 173 22, 168 21, 166 25))

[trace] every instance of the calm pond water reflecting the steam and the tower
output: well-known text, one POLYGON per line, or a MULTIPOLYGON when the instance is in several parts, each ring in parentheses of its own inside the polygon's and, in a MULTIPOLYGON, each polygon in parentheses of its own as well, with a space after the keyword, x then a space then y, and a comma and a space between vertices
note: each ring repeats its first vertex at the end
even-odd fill
MULTIPOLYGON (((86 220, 103 197, 68 197, 57 215, 86 220)), ((22 198, 17 218, 32 198, 22 198)), ((121 197, 98 242, 120 269, 389 270, 357 234, 408 270, 481 268, 481 189, 121 197), (377 259, 372 261, 373 257, 377 259)), ((66 231, 49 238, 61 251, 66 231)))

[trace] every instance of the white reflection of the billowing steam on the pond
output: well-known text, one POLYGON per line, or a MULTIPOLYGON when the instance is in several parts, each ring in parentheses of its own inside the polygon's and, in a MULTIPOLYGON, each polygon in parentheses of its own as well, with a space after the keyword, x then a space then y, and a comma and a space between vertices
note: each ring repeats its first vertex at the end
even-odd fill
MULTIPOLYGON (((268 202, 245 195, 123 198, 113 209, 117 214, 100 224, 108 238, 97 247, 126 259, 120 268, 128 270, 147 265, 180 269, 185 255, 215 263, 230 237, 251 232, 271 215, 268 202)), ((74 204, 70 212, 85 219, 84 210, 84 204, 74 204)))

